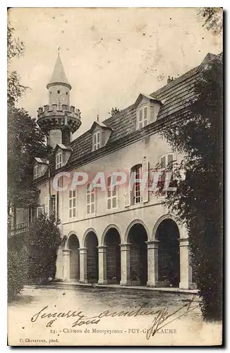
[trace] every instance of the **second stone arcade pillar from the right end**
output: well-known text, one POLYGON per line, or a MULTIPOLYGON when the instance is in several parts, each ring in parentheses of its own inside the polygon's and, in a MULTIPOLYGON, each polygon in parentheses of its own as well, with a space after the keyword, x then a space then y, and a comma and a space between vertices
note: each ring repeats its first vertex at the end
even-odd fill
POLYGON ((146 241, 147 244, 147 287, 157 287, 158 281, 158 240, 146 241))

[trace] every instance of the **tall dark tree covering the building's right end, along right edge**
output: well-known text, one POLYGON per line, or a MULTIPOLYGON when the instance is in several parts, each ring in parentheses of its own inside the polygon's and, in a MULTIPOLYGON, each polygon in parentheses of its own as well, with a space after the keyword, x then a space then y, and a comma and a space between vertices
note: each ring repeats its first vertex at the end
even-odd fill
POLYGON ((188 119, 162 131, 184 156, 166 205, 186 222, 202 314, 209 320, 222 317, 222 93, 219 55, 200 73, 188 119))

